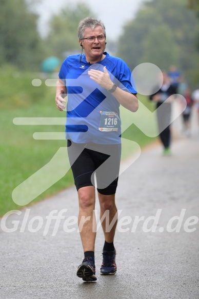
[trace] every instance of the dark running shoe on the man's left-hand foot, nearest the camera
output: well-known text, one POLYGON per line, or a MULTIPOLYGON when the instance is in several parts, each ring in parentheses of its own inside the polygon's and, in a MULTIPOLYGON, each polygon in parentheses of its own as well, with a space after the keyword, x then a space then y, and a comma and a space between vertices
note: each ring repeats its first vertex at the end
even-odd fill
POLYGON ((77 276, 82 278, 84 282, 95 282, 97 280, 95 261, 91 256, 84 258, 82 264, 78 266, 77 276))

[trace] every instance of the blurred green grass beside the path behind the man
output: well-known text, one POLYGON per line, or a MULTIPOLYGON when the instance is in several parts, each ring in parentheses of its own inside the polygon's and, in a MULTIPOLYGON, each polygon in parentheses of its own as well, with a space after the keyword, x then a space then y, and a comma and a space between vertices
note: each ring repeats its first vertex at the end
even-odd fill
MULTIPOLYGON (((31 74, 13 76, 11 72, 7 74, 0 72, 0 78, 3 82, 0 88, 0 215, 4 215, 10 210, 22 208, 12 200, 13 189, 45 166, 59 147, 66 147, 65 140, 35 140, 33 138, 34 132, 64 132, 64 125, 22 126, 13 124, 15 117, 65 117, 65 112, 60 112, 55 107, 55 88, 46 87, 44 80, 40 87, 33 87, 31 81, 34 77, 31 74)), ((139 99, 150 109, 153 109, 151 103, 144 96, 139 96, 139 99)), ((131 117, 129 111, 125 110, 122 109, 124 123, 129 115, 131 117)), ((147 137, 134 124, 123 133, 123 137, 135 141, 141 147, 154 139, 147 137)), ((124 147, 123 158, 133 153, 134 150, 133 147, 124 147)), ((32 203, 55 194, 72 184, 72 173, 69 171, 61 180, 36 197, 32 203)))

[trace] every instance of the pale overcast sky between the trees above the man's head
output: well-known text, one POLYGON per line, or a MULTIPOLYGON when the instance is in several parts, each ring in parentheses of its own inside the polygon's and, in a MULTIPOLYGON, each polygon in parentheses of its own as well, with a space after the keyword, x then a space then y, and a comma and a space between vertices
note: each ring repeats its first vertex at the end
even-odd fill
POLYGON ((144 0, 42 0, 42 3, 37 5, 37 12, 41 16, 39 19, 41 33, 45 35, 47 32, 46 24, 52 13, 77 2, 84 2, 90 6, 97 18, 104 22, 107 37, 113 39, 122 33, 122 26, 128 19, 132 19, 144 0))

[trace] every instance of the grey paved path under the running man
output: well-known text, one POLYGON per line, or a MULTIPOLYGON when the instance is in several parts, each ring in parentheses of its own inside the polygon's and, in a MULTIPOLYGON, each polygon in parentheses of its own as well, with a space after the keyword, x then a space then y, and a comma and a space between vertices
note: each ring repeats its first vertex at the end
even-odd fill
POLYGON ((99 228, 97 282, 83 283, 76 276, 83 254, 77 224, 72 223, 78 213, 72 187, 8 217, 5 225, 16 225, 16 231, 0 230, 0 298, 198 299, 199 133, 178 138, 172 156, 161 151, 158 145, 143 151, 120 177, 116 275, 99 275, 104 243, 99 228), (64 219, 59 225, 52 220, 48 229, 46 217, 53 210, 64 219))

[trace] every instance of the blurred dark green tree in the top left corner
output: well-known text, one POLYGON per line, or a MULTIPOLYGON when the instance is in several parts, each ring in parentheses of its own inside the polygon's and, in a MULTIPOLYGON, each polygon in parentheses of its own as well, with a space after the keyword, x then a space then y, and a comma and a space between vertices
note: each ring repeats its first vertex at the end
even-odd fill
POLYGON ((0 7, 0 66, 34 69, 43 59, 37 16, 25 0, 0 0, 0 7))

